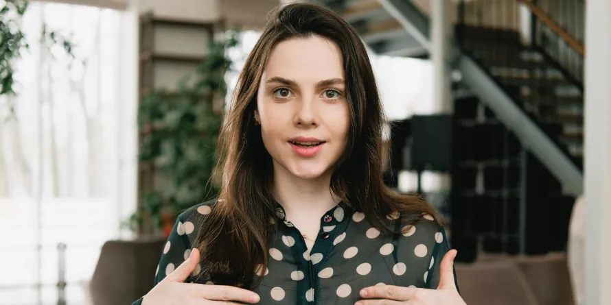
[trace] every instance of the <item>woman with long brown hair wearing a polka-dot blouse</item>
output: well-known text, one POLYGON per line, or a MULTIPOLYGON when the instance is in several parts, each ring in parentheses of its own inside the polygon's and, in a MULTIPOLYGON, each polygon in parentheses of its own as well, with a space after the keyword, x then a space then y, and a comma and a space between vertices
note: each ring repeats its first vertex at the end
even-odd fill
POLYGON ((382 182, 383 122, 354 29, 281 8, 222 127, 219 198, 178 217, 135 304, 464 304, 435 210, 382 182))

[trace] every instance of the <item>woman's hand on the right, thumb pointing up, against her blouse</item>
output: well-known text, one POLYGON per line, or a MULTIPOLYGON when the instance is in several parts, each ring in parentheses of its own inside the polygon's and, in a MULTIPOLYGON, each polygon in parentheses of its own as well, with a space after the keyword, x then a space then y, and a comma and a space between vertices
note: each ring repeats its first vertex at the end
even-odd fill
POLYGON ((466 305, 454 283, 454 258, 456 250, 443 256, 439 266, 439 286, 437 289, 422 289, 399 286, 372 286, 362 289, 356 305, 466 305))

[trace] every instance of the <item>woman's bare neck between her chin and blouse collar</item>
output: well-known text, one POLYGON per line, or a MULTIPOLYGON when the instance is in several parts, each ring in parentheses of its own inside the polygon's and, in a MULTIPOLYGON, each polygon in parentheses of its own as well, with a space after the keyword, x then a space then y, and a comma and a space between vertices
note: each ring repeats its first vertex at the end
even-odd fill
POLYGON ((316 179, 301 179, 278 164, 274 166, 273 195, 287 219, 318 219, 339 203, 330 190, 331 173, 316 179))

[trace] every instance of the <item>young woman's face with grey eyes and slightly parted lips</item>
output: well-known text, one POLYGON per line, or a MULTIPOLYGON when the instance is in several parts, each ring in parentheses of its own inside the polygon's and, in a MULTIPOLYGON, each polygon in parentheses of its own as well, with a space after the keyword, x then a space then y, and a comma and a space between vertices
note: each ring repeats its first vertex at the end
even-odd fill
POLYGON ((341 51, 319 36, 277 44, 262 75, 255 118, 275 170, 330 174, 349 129, 341 51))

